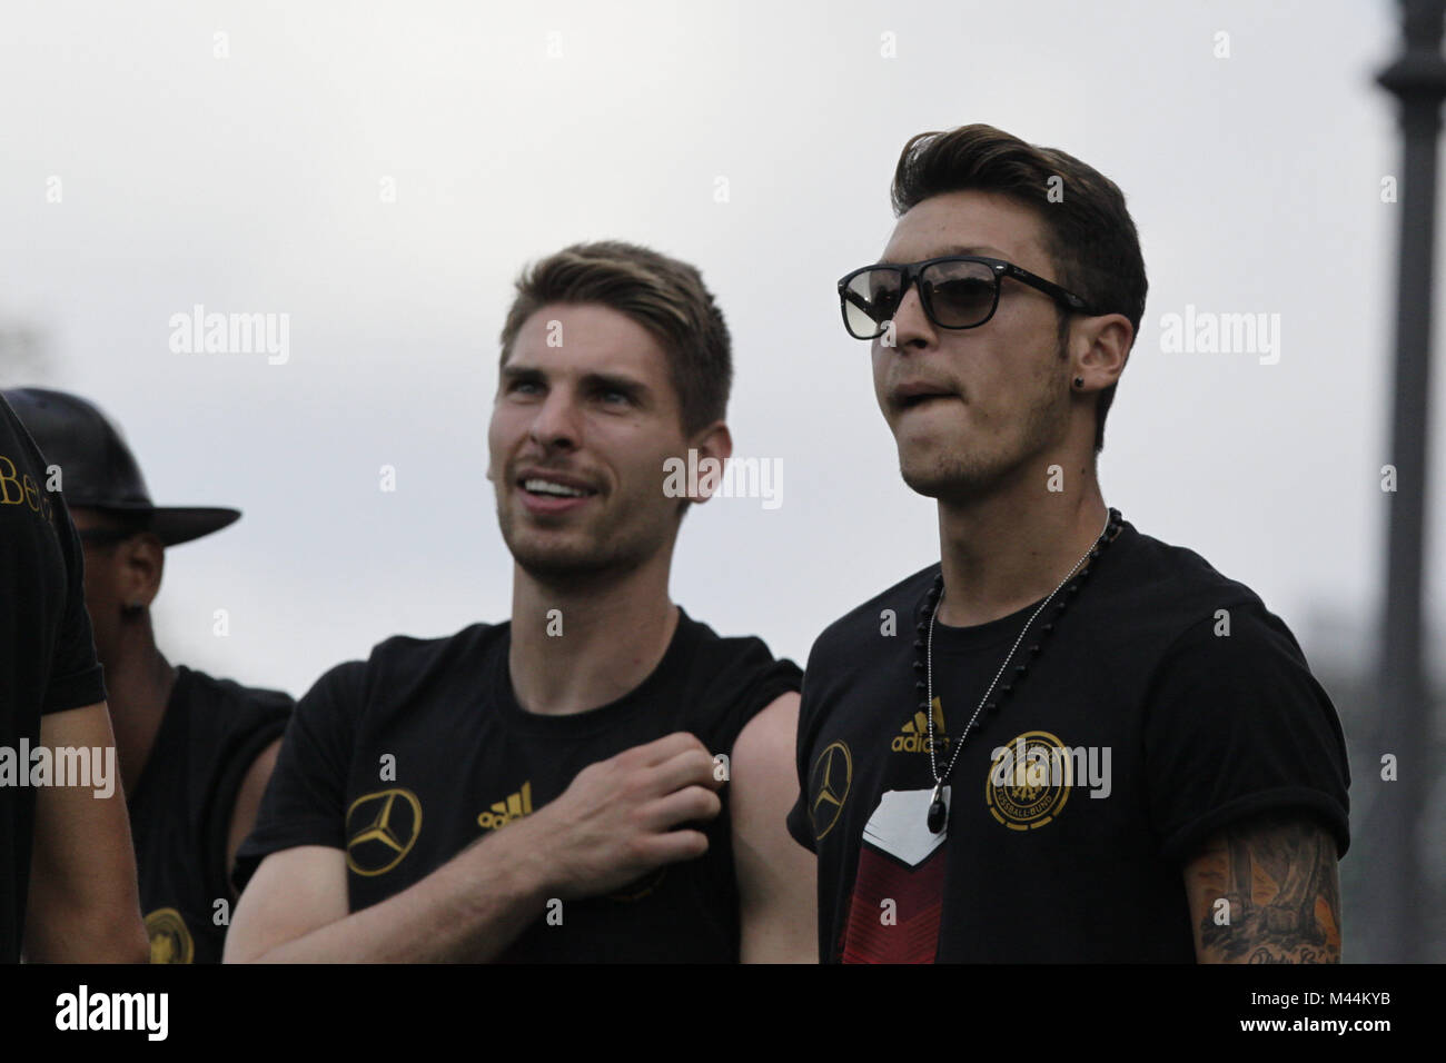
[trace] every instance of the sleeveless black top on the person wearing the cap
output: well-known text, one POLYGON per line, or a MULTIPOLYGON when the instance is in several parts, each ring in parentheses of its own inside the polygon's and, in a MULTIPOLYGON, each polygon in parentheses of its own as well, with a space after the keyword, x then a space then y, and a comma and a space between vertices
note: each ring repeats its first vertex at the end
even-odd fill
POLYGON ((161 719, 134 793, 130 836, 152 963, 220 963, 231 908, 226 840, 241 780, 281 738, 292 700, 187 667, 161 719))

